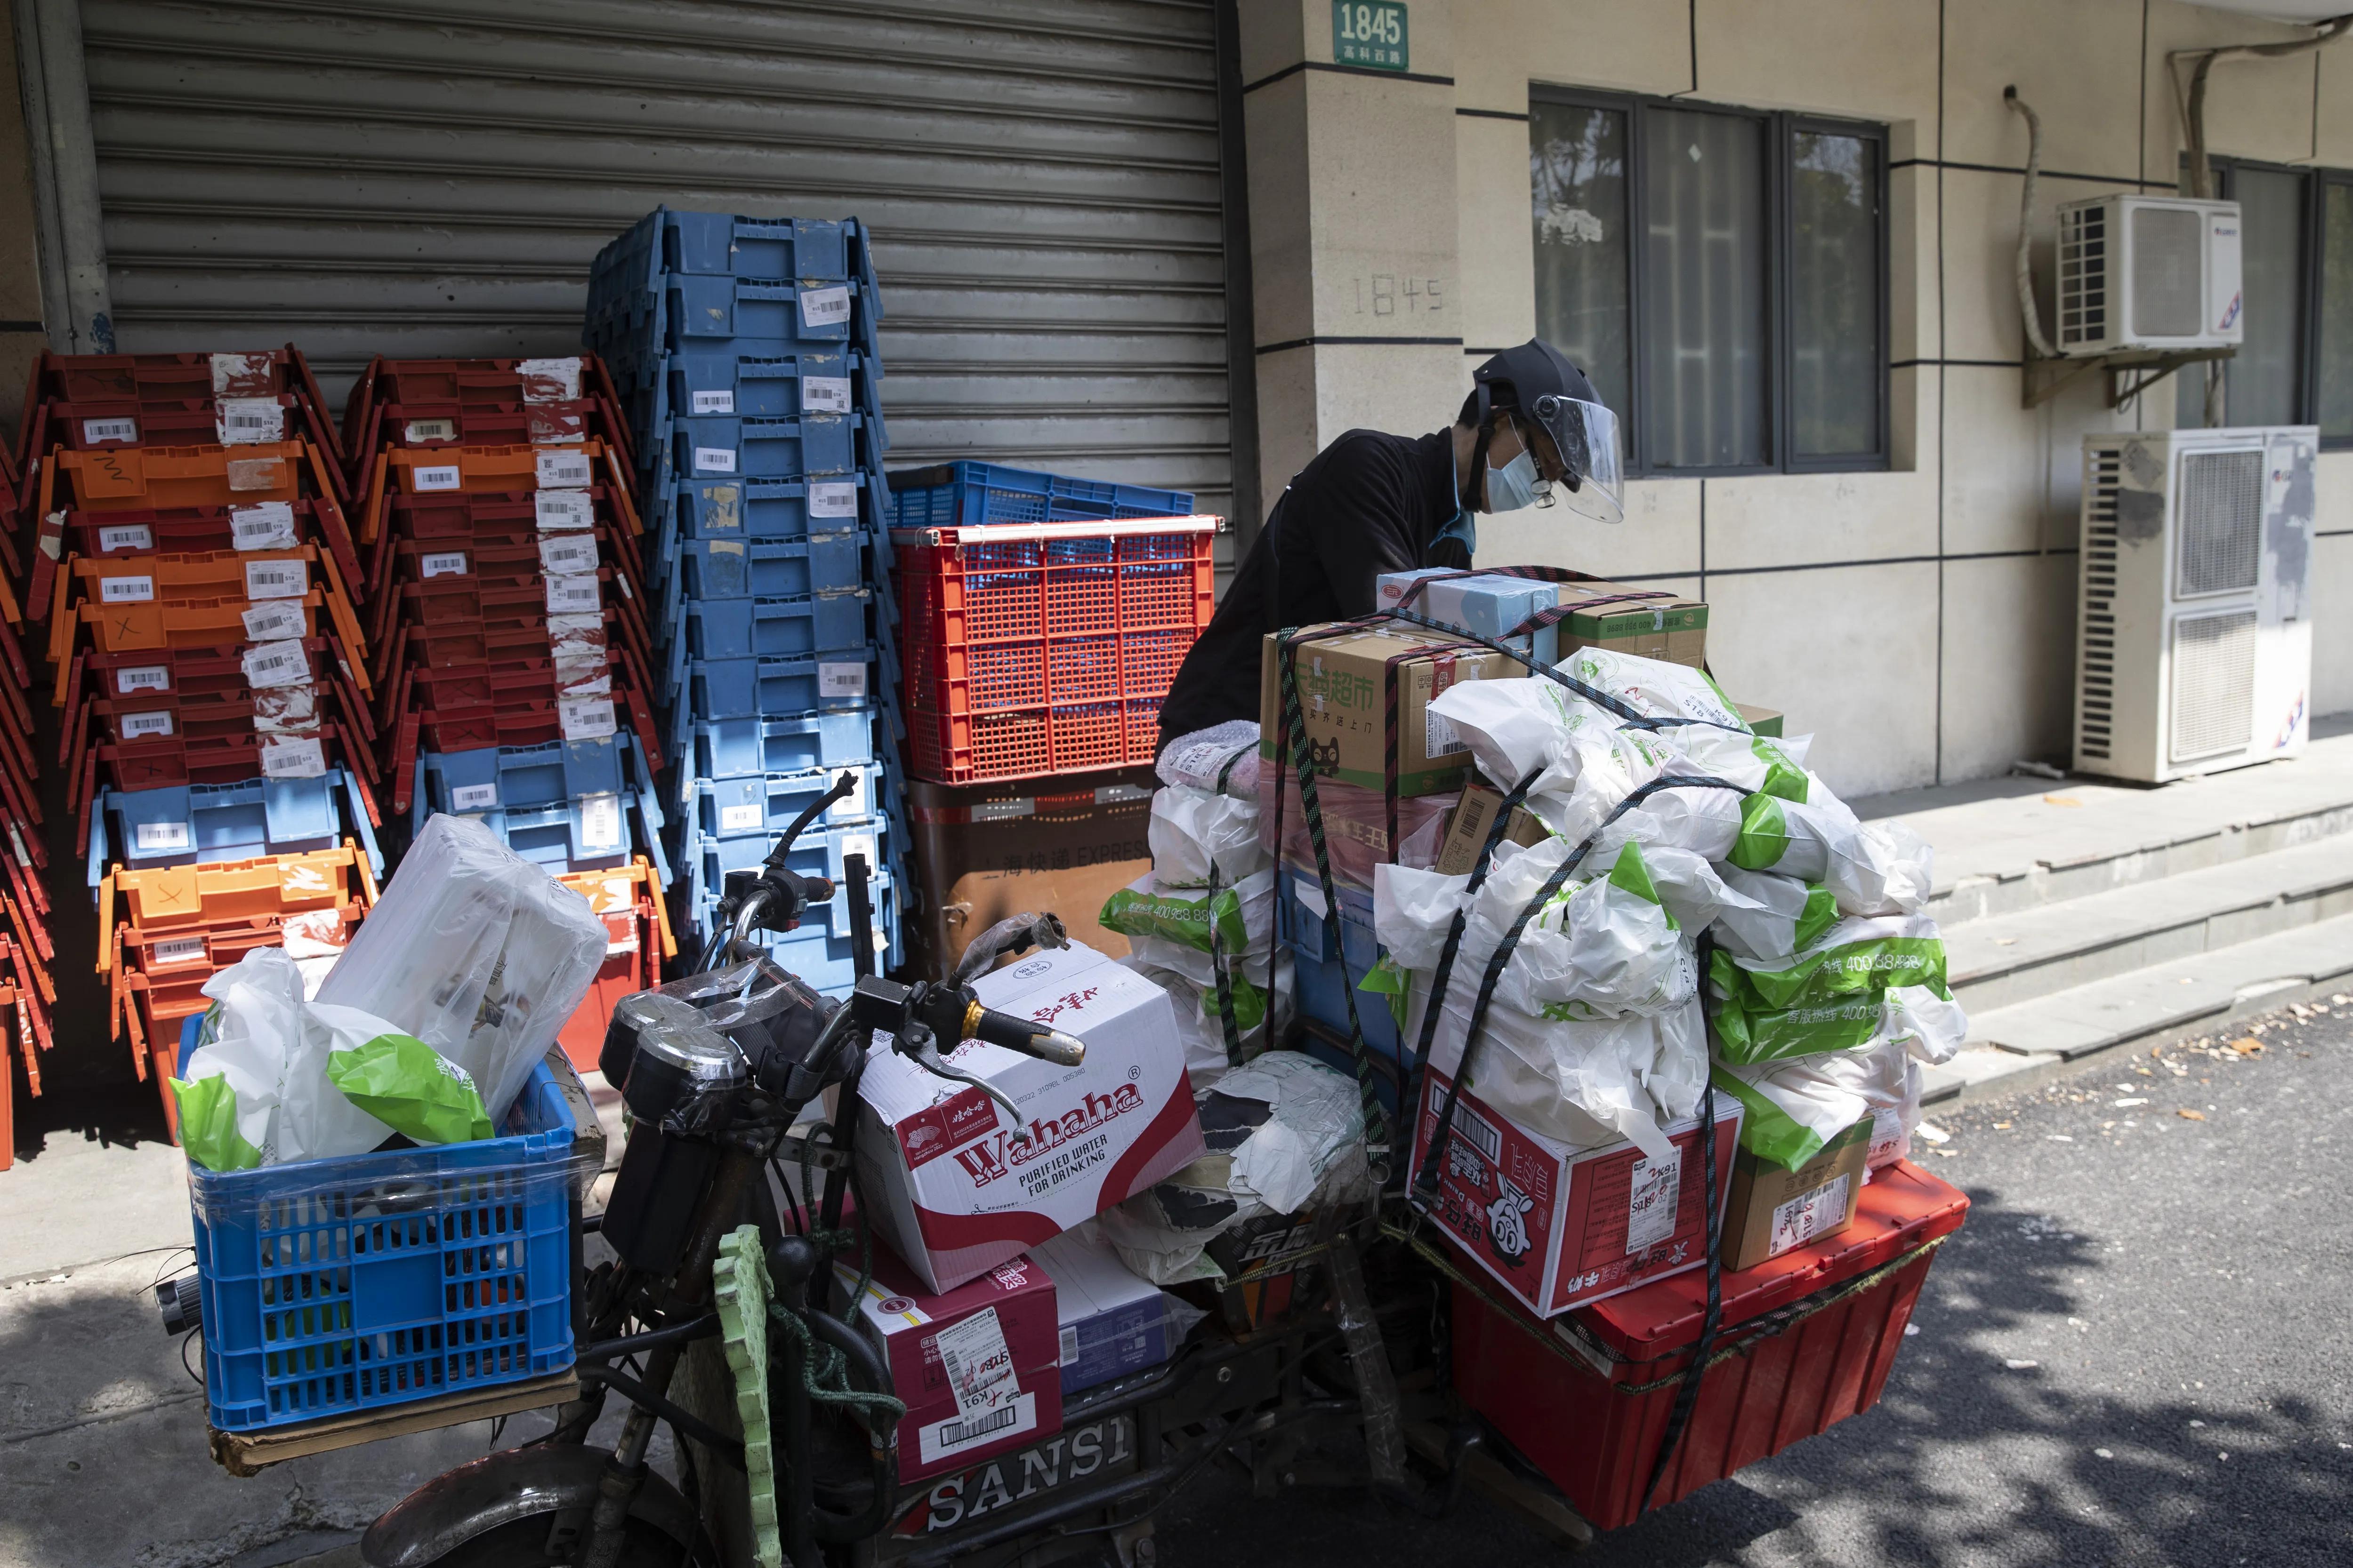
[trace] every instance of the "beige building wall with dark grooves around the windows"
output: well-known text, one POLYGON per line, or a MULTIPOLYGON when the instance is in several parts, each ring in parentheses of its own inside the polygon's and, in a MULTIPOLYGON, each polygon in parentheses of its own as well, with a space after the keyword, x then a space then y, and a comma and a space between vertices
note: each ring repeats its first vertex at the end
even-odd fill
MULTIPOLYGON (((1812 731, 1840 790, 2064 762, 2080 442, 2172 425, 2174 397, 2162 383, 2111 411, 2080 383, 2019 407, 2026 125, 2002 87, 2042 115, 2047 270, 2059 202, 2172 186, 2167 49, 2304 31, 2174 0, 1414 0, 1409 66, 1438 80, 1393 80, 1318 71, 1334 59, 1329 12, 1242 7, 1266 494, 1351 425, 1445 423, 1466 350, 1537 329, 1532 82, 1885 122, 1889 470, 1638 480, 1621 527, 1562 510, 1482 520, 1480 562, 1704 595, 1718 679, 1812 731), (1306 158, 1278 174, 1294 148, 1306 158), (1428 230, 1440 207, 1452 249, 1428 230), (1409 268, 1445 280, 1449 315, 1348 313, 1351 280, 1409 268), (1327 341, 1358 336, 1384 341, 1327 341)), ((2217 66, 2207 139, 2219 155, 2353 169, 2353 42, 2217 66)), ((2353 454, 2322 456, 2320 496, 2313 705, 2334 712, 2353 708, 2353 454)))

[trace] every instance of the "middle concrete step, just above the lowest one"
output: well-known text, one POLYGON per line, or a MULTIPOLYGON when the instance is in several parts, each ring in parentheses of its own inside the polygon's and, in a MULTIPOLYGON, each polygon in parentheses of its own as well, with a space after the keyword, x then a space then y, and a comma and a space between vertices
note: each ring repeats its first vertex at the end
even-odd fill
POLYGON ((1969 1016, 2353 914, 2353 835, 1944 929, 1969 1016))

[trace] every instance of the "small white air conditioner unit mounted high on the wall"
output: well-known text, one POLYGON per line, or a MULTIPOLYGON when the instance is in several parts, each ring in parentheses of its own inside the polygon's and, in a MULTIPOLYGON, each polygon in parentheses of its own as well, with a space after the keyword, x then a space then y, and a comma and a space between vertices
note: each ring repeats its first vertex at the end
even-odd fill
POLYGON ((2059 353, 2233 348, 2238 202, 2097 195, 2059 209, 2059 353))

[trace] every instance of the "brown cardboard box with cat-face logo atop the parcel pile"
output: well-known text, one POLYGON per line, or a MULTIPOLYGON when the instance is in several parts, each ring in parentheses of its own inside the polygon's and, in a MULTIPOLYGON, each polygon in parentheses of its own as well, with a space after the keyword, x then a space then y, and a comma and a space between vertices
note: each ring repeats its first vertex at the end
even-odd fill
MULTIPOLYGON (((1311 628, 1313 630, 1313 628, 1311 628)), ((1431 701, 1454 682, 1527 677, 1527 665, 1478 644, 1421 628, 1381 628, 1318 637, 1297 646, 1299 708, 1315 773, 1381 790, 1388 766, 1388 679, 1398 682, 1398 795, 1459 790, 1471 748, 1431 701)), ((1282 733, 1282 675, 1275 632, 1259 661, 1259 755, 1275 755, 1282 733)))

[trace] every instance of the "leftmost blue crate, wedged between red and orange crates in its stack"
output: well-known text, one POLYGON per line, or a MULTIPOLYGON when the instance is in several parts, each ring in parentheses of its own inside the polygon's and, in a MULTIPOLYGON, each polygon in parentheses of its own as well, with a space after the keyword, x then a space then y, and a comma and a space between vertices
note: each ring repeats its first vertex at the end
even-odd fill
POLYGON ((132 867, 252 860, 334 849, 346 837, 360 839, 381 877, 384 856, 367 804, 344 769, 327 769, 320 778, 99 790, 89 825, 89 886, 106 879, 111 860, 132 867), (108 842, 115 853, 108 853, 108 842))

